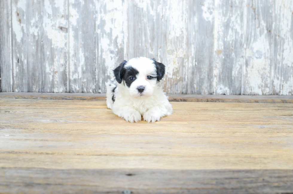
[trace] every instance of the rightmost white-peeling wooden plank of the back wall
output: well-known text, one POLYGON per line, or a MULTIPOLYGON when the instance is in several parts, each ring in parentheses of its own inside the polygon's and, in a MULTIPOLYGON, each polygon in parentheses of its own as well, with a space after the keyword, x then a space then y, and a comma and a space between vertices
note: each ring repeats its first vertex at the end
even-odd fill
POLYGON ((293 1, 274 4, 272 93, 293 94, 293 1))

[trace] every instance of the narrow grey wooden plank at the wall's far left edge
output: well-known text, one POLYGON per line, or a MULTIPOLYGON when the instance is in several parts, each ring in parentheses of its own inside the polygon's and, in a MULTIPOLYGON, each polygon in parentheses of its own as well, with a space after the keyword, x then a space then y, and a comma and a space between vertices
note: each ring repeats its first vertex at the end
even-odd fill
POLYGON ((0 2, 0 91, 12 92, 11 1, 0 2))

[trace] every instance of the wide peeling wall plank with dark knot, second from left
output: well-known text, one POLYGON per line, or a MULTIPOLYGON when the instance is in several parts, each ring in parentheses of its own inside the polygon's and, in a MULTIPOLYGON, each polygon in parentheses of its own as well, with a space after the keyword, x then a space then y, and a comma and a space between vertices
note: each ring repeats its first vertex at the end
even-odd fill
POLYGON ((65 92, 67 1, 12 3, 15 92, 65 92))

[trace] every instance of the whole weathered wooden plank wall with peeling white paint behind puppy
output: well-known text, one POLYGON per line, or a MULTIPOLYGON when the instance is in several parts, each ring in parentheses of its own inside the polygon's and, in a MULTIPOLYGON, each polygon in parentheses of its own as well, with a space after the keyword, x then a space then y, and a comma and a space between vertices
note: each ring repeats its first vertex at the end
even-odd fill
POLYGON ((167 93, 293 94, 292 0, 0 0, 1 91, 105 93, 157 58, 167 93))

